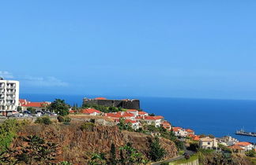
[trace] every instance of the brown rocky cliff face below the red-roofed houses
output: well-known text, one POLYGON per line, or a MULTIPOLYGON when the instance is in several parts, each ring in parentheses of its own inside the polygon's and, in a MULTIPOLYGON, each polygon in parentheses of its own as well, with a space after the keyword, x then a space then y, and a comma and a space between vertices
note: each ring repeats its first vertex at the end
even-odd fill
MULTIPOLYGON (((148 156, 149 141, 152 136, 129 131, 120 131, 118 127, 97 126, 92 130, 80 129, 81 123, 53 124, 51 126, 29 125, 24 127, 19 135, 40 135, 47 141, 59 145, 58 161, 66 160, 72 163, 85 164, 94 152, 105 152, 109 156, 111 144, 116 148, 131 142, 145 156, 148 156)), ((16 142, 19 142, 18 140, 16 142)), ((21 142, 21 141, 20 141, 21 142)), ((166 158, 177 156, 177 149, 172 141, 161 138, 161 145, 168 152, 166 158)), ((117 151, 118 152, 118 151, 117 151)), ((118 153, 117 153, 118 154, 118 153)))

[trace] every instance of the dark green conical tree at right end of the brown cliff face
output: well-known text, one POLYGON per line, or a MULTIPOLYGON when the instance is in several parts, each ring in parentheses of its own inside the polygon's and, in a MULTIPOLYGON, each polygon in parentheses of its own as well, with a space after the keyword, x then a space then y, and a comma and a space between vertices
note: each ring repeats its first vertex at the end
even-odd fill
POLYGON ((166 151, 160 145, 159 138, 154 138, 153 141, 151 141, 149 148, 149 156, 153 161, 159 161, 166 154, 166 151))

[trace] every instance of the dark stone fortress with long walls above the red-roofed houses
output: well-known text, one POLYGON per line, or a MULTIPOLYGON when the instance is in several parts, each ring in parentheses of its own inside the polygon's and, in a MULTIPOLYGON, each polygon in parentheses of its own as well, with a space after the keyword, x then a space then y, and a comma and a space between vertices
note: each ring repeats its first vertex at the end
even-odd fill
POLYGON ((84 98, 84 105, 103 105, 106 107, 122 107, 126 109, 139 109, 140 101, 137 99, 123 99, 123 100, 115 100, 115 99, 107 99, 104 97, 96 97, 96 98, 84 98))

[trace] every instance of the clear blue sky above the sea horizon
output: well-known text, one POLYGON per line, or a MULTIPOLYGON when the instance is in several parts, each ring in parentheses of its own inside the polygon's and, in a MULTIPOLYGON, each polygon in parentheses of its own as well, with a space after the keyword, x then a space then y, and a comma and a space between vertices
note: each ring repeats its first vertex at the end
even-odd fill
POLYGON ((21 94, 256 99, 256 1, 0 2, 21 94))

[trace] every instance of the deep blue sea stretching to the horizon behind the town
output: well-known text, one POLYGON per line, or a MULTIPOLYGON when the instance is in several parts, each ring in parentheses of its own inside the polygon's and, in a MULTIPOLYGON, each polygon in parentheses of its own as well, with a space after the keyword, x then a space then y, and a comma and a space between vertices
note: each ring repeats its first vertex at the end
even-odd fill
MULTIPOLYGON (((21 98, 29 101, 54 101, 55 98, 62 98, 70 105, 81 105, 83 97, 99 96, 21 94, 21 98)), ((256 101, 168 97, 135 98, 140 99, 141 108, 144 111, 164 116, 175 127, 190 128, 196 134, 213 134, 216 137, 231 135, 239 141, 256 143, 255 137, 235 135, 235 130, 241 128, 256 132, 256 101)))

